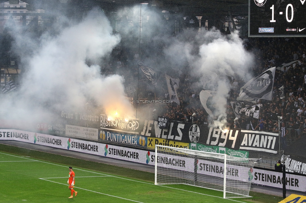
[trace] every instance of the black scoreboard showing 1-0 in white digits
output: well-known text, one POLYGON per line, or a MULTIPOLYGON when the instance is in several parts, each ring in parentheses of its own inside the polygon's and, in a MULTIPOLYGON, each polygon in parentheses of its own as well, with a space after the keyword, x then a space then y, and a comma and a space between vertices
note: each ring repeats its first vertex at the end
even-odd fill
POLYGON ((306 0, 249 0, 249 37, 306 37, 306 0))

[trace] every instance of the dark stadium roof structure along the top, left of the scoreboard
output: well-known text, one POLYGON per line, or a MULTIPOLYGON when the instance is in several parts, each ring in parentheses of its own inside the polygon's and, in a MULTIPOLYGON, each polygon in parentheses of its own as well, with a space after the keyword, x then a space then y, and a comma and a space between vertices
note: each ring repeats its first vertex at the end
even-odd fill
MULTIPOLYGON (((0 3, 8 0, 0 0, 0 3)), ((14 4, 18 0, 10 0, 14 4)), ((75 5, 84 10, 100 6, 105 11, 115 10, 123 6, 148 3, 157 9, 165 10, 170 13, 182 13, 185 16, 212 16, 219 17, 224 15, 247 16, 248 0, 24 0, 33 9, 56 8, 59 9, 63 4, 75 5)))

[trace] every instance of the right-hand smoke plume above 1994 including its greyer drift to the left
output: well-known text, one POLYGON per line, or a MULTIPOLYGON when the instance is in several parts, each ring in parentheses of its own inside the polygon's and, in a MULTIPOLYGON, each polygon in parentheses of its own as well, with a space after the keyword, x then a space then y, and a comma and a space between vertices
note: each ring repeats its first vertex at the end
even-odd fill
POLYGON ((226 127, 227 99, 231 91, 228 76, 247 81, 252 77, 250 70, 254 65, 253 54, 245 50, 238 32, 222 35, 214 28, 199 32, 193 40, 175 39, 165 53, 170 61, 175 59, 172 64, 187 63, 191 67, 189 74, 198 78, 195 87, 205 86, 205 89, 215 91, 212 98, 215 111, 211 116, 214 121, 211 125, 226 127), (203 84, 203 81, 206 83, 203 84))

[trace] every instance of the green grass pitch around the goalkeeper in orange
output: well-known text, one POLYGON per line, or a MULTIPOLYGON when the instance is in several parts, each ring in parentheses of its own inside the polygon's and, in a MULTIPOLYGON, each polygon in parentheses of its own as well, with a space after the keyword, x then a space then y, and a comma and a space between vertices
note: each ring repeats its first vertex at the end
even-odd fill
POLYGON ((250 193, 225 200, 222 192, 187 185, 155 186, 154 174, 0 144, 0 202, 262 202, 281 197, 250 193), (68 166, 78 196, 68 199, 68 166), (93 177, 95 176, 95 177, 93 177))

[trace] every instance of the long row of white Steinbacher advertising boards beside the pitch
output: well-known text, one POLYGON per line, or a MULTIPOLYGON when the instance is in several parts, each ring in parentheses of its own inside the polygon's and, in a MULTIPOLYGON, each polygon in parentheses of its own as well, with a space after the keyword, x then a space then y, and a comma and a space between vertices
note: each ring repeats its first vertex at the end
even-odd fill
MULTIPOLYGON (((154 165, 155 153, 152 151, 131 149, 128 147, 107 145, 94 141, 83 141, 78 139, 72 139, 68 137, 51 136, 41 133, 12 130, 12 129, 0 129, 0 140, 15 140, 27 143, 33 143, 42 146, 50 146, 59 149, 65 149, 69 151, 77 151, 87 154, 93 154, 113 159, 119 159, 124 161, 131 161, 140 164, 154 165)), ((190 166, 187 163, 194 163, 191 158, 182 156, 168 157, 158 156, 158 165, 163 167, 172 167, 182 171, 194 171, 194 164, 190 166)), ((240 168, 235 166, 227 166, 227 171, 230 173, 230 179, 236 179, 239 176, 240 168)), ((221 170, 221 165, 215 165, 214 163, 205 162, 203 160, 198 161, 198 173, 213 175, 215 173, 222 174, 224 169, 221 170), (215 170, 209 170, 213 168, 215 170), (205 169, 205 170, 204 170, 205 169), (216 170, 218 169, 218 170, 216 170)), ((267 171, 261 169, 251 169, 250 180, 255 184, 272 186, 276 188, 282 188, 282 174, 275 171, 267 171)), ((243 180, 245 181, 245 180, 243 180)), ((286 174, 286 188, 294 191, 306 191, 305 176, 286 174)))

